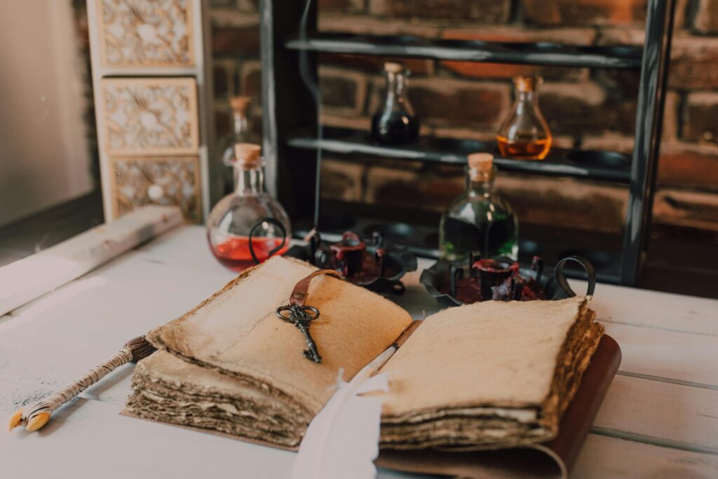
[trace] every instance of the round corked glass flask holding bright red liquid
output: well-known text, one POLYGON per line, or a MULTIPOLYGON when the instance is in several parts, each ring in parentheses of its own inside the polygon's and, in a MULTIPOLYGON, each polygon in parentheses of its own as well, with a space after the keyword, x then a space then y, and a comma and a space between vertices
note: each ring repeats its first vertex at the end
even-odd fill
POLYGON ((278 201, 264 191, 264 162, 257 144, 235 145, 235 190, 220 200, 207 220, 215 257, 233 271, 289 249, 292 229, 278 201))

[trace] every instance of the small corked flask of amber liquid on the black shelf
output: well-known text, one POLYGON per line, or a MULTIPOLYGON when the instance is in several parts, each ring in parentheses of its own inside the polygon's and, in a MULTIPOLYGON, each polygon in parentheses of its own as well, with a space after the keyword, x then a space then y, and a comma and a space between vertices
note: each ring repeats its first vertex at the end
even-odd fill
POLYGON ((541 77, 518 76, 513 83, 516 102, 496 135, 499 152, 505 158, 544 159, 551 149, 551 131, 538 109, 541 77))

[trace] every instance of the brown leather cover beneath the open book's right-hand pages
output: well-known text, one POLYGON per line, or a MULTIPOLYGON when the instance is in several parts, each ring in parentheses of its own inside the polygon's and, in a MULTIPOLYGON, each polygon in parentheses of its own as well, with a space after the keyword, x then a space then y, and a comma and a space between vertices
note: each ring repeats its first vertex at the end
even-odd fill
POLYGON ((487 451, 382 450, 376 464, 413 473, 475 479, 567 478, 620 362, 618 344, 604 335, 554 440, 534 447, 487 451))

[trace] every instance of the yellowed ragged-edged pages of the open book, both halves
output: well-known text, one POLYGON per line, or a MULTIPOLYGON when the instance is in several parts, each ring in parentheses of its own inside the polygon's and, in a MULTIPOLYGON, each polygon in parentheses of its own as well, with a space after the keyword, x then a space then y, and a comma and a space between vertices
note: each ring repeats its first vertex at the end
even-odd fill
MULTIPOLYGON (((186 315, 152 330, 126 413, 296 449, 333 394, 395 343, 409 313, 330 276, 312 280, 310 332, 276 317, 315 268, 273 258, 245 271, 186 315)), ((484 302, 427 317, 383 366, 381 447, 460 450, 531 445, 559 421, 603 334, 589 298, 484 302)))

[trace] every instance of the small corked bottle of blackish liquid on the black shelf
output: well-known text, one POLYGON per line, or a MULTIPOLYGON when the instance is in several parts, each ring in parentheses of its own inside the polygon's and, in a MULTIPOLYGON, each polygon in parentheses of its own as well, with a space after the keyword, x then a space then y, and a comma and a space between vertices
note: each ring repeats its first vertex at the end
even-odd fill
POLYGON ((371 120, 371 135, 381 144, 408 144, 419 137, 419 118, 406 98, 409 72, 401 63, 384 63, 386 93, 371 120))

